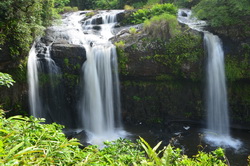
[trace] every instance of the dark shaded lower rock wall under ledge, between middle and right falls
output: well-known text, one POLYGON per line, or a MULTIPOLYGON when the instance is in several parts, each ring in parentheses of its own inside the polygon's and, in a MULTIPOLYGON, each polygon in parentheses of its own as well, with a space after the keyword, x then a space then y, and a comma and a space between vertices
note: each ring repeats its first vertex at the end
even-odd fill
POLYGON ((202 85, 191 81, 121 82, 125 123, 164 125, 169 121, 200 122, 205 117, 202 85))

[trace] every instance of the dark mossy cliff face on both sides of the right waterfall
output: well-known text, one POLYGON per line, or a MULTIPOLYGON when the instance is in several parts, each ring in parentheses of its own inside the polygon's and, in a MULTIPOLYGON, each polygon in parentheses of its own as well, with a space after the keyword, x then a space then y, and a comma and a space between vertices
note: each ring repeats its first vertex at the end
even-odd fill
MULTIPOLYGON (((123 28, 119 27, 117 30, 123 28)), ((195 52, 196 47, 194 49, 181 47, 194 44, 195 40, 183 38, 183 40, 175 40, 176 42, 173 42, 175 46, 171 45, 172 43, 169 45, 165 43, 165 45, 156 40, 148 40, 149 35, 143 31, 131 34, 129 28, 130 26, 126 26, 112 39, 113 43, 122 43, 117 50, 124 122, 148 125, 164 125, 171 120, 204 122, 206 119, 204 109, 206 54, 195 52), (164 56, 169 55, 169 52, 165 52, 168 49, 167 46, 176 48, 173 49, 176 54, 164 56), (161 59, 156 59, 155 55, 160 55, 161 59), (175 58, 180 55, 192 56, 187 59, 183 56, 182 60, 175 58), (194 55, 197 55, 197 58, 194 55)), ((182 25, 182 29, 185 29, 185 25, 182 25)), ((196 31, 189 32, 200 36, 201 42, 198 48, 203 50, 202 34, 196 31)), ((232 77, 233 81, 229 81, 227 87, 232 126, 244 128, 250 123, 249 72, 246 72, 249 71, 249 63, 247 63, 249 62, 249 41, 237 44, 229 38, 223 36, 221 38, 227 78, 229 80, 232 77)))

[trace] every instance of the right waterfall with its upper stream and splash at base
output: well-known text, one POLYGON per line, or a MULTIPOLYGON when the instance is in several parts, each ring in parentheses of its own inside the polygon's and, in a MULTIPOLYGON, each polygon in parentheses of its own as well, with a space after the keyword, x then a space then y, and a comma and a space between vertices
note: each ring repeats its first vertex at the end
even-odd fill
POLYGON ((206 110, 207 131, 206 141, 215 146, 229 146, 238 149, 241 146, 239 140, 230 137, 227 90, 224 69, 224 52, 218 36, 205 31, 205 21, 191 17, 188 9, 180 9, 178 21, 190 28, 204 33, 204 42, 207 49, 207 88, 206 110))

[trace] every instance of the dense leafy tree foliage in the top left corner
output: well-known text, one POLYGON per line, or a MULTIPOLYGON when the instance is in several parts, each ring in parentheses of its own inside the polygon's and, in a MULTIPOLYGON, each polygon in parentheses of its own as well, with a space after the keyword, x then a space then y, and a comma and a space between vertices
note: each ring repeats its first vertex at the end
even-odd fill
POLYGON ((58 18, 69 0, 5 0, 0 2, 0 44, 13 57, 26 55, 45 26, 58 18))

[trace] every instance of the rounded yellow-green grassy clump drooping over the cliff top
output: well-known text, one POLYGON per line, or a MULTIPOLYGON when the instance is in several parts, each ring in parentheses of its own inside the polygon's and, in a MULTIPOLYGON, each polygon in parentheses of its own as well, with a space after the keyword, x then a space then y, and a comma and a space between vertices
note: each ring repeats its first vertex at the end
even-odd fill
POLYGON ((144 30, 153 38, 168 40, 180 34, 180 25, 176 16, 164 13, 159 16, 154 16, 144 23, 144 30))

